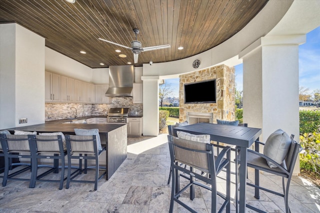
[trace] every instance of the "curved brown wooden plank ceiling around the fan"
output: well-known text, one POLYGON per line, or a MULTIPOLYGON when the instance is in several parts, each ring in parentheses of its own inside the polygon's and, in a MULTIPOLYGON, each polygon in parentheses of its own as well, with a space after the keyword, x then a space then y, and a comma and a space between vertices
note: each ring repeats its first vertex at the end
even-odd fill
POLYGON ((16 22, 43 36, 45 46, 91 68, 133 64, 125 46, 140 33, 142 47, 170 44, 141 52, 138 63, 186 58, 206 51, 241 30, 267 0, 0 0, 0 23, 16 22), (178 50, 183 46, 183 50, 178 50), (121 53, 115 52, 121 50, 121 53), (83 50, 86 54, 81 54, 83 50), (126 58, 118 55, 125 54, 126 58), (100 65, 104 63, 105 65, 100 65))

